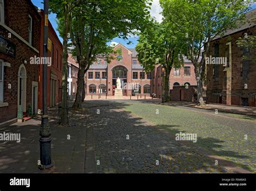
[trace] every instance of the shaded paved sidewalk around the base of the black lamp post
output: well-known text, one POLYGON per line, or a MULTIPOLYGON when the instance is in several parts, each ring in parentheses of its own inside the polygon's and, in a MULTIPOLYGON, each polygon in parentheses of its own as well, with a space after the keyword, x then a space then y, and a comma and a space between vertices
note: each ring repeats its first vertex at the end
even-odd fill
MULTIPOLYGON (((72 103, 70 103, 72 104, 72 103)), ((72 125, 60 126, 58 109, 49 109, 51 128, 51 169, 39 170, 39 128, 41 117, 15 123, 0 129, 0 133, 21 133, 21 142, 0 141, 0 173, 84 173, 86 116, 83 111, 70 110, 72 125), (70 135, 70 140, 68 139, 70 135)), ((71 124, 71 123, 70 123, 71 124)))

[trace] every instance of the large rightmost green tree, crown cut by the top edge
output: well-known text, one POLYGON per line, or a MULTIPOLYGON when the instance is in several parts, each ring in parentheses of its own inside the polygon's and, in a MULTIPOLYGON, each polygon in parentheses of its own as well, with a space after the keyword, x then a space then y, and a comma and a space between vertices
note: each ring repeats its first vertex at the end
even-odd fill
POLYGON ((187 38, 185 54, 194 65, 198 87, 198 104, 203 101, 204 61, 210 41, 221 36, 227 29, 237 26, 252 1, 223 0, 160 0, 166 22, 177 26, 187 38), (204 48, 200 60, 201 49, 204 48))

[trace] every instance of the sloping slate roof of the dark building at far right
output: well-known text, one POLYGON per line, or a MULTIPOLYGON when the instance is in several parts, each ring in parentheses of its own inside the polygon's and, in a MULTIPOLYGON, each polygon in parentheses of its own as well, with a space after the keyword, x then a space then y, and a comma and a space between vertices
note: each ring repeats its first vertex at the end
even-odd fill
POLYGON ((223 36, 216 36, 213 40, 223 38, 225 36, 228 36, 230 34, 234 34, 234 33, 239 32, 239 31, 244 31, 245 29, 249 29, 249 28, 256 25, 256 23, 253 22, 253 19, 256 18, 256 9, 253 9, 252 11, 247 12, 245 17, 246 17, 245 18, 245 23, 244 22, 243 23, 238 23, 237 28, 229 29, 224 33, 223 36))

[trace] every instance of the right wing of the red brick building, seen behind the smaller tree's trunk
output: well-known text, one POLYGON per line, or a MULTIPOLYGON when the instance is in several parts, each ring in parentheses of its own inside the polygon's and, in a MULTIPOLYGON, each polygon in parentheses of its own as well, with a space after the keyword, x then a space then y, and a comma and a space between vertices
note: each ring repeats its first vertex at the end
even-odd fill
MULTIPOLYGON (((157 97, 163 94, 163 77, 161 76, 161 65, 158 65, 153 71, 153 92, 157 97)), ((173 86, 186 86, 186 84, 188 84, 188 86, 197 86, 193 63, 184 57, 184 67, 179 69, 172 68, 169 84, 170 90, 173 89, 173 86)))

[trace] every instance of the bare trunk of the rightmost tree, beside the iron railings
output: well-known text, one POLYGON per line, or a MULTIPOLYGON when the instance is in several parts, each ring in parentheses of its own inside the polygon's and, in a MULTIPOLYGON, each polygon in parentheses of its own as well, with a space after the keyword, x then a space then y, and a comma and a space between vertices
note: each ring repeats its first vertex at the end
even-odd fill
POLYGON ((203 99, 203 66, 194 65, 194 72, 197 80, 197 105, 204 106, 205 102, 203 99))

